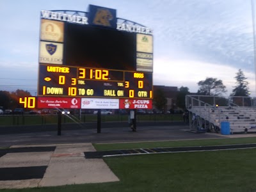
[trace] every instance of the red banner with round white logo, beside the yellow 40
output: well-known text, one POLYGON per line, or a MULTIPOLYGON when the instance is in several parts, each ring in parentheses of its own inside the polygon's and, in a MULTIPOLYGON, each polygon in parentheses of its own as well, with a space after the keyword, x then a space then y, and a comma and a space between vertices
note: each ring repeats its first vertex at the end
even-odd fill
POLYGON ((37 108, 80 109, 81 108, 81 98, 38 97, 37 108))

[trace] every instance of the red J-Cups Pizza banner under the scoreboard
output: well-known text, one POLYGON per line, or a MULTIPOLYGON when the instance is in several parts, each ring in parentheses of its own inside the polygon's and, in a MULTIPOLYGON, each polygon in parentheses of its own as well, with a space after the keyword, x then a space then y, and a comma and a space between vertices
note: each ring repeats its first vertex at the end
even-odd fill
POLYGON ((120 99, 120 109, 152 109, 152 100, 120 99))

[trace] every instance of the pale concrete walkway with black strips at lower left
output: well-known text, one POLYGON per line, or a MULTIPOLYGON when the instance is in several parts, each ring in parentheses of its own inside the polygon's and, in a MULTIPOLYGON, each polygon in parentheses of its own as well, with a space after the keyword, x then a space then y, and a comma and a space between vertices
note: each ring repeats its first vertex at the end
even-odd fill
MULTIPOLYGON (((54 151, 12 152, 0 157, 0 174, 4 171, 13 172, 12 177, 15 179, 1 179, 0 189, 63 186, 119 180, 102 159, 86 159, 84 157, 84 152, 95 151, 91 143, 44 145, 43 147, 52 146, 56 146, 54 151), (19 179, 22 177, 19 174, 26 176, 28 168, 32 168, 32 170, 38 168, 37 172, 42 172, 42 178, 38 178, 40 174, 35 174, 37 179, 19 179), (16 174, 17 176, 15 176, 16 174)), ((28 146, 13 146, 12 148, 19 151, 19 148, 24 147, 28 146)), ((42 145, 29 145, 30 147, 36 148, 42 147, 42 145)))

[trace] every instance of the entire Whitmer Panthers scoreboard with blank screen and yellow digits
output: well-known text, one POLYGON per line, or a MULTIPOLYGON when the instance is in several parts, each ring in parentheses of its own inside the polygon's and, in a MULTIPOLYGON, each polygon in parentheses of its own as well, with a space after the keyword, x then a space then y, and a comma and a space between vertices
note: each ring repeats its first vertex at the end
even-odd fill
POLYGON ((116 10, 109 8, 90 5, 83 16, 68 12, 41 11, 38 98, 151 104, 152 29, 119 23, 116 10))

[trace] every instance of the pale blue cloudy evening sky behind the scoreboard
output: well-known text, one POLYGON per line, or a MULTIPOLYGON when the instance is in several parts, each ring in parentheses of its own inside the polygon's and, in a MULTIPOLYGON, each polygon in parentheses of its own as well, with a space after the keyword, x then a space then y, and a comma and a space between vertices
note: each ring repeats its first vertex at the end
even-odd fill
POLYGON ((241 68, 255 96, 251 0, 0 0, 0 90, 37 92, 40 10, 86 12, 89 4, 154 30, 154 85, 197 92, 198 81, 214 77, 229 95, 241 68))

